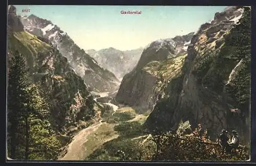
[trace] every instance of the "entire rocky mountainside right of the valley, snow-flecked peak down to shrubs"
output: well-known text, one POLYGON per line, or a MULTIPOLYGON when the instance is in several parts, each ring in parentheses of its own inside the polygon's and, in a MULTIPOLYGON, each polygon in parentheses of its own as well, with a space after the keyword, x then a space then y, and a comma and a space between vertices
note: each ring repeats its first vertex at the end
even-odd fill
POLYGON ((238 130, 246 140, 250 16, 241 22, 242 16, 243 9, 229 7, 195 34, 152 42, 124 76, 116 100, 140 112, 152 109, 144 124, 150 130, 175 130, 181 120, 189 120, 212 138, 225 128, 238 130))

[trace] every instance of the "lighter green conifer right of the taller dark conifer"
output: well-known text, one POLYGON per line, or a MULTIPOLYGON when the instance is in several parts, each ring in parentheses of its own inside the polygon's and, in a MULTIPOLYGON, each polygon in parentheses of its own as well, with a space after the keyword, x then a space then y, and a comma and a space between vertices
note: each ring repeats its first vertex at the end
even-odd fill
POLYGON ((49 122, 48 104, 36 84, 26 88, 25 159, 56 159, 60 142, 49 122))

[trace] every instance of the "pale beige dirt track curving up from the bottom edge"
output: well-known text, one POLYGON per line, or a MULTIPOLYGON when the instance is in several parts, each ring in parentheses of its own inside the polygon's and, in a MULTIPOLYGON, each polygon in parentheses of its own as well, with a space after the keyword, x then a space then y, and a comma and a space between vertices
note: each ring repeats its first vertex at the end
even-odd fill
POLYGON ((87 141, 87 136, 97 130, 97 128, 102 125, 102 122, 99 121, 92 126, 81 130, 78 132, 72 139, 71 143, 69 144, 68 147, 68 152, 67 154, 60 158, 59 160, 79 160, 81 157, 81 152, 84 150, 85 147, 82 145, 87 141))

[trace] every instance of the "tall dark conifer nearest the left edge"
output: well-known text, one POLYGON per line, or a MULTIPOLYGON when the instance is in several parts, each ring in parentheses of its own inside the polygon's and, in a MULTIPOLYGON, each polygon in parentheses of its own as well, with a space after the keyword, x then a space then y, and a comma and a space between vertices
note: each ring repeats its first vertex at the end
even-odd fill
POLYGON ((17 51, 13 55, 9 64, 8 74, 8 147, 10 148, 10 157, 17 157, 17 148, 19 145, 18 124, 20 112, 24 110, 25 88, 28 86, 28 76, 25 58, 17 51))

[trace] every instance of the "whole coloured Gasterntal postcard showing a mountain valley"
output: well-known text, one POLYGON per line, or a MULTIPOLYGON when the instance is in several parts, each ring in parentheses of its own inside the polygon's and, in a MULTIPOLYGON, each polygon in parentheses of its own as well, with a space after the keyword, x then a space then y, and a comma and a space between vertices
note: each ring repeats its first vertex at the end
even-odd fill
POLYGON ((8 6, 8 161, 249 161, 251 8, 8 6))

